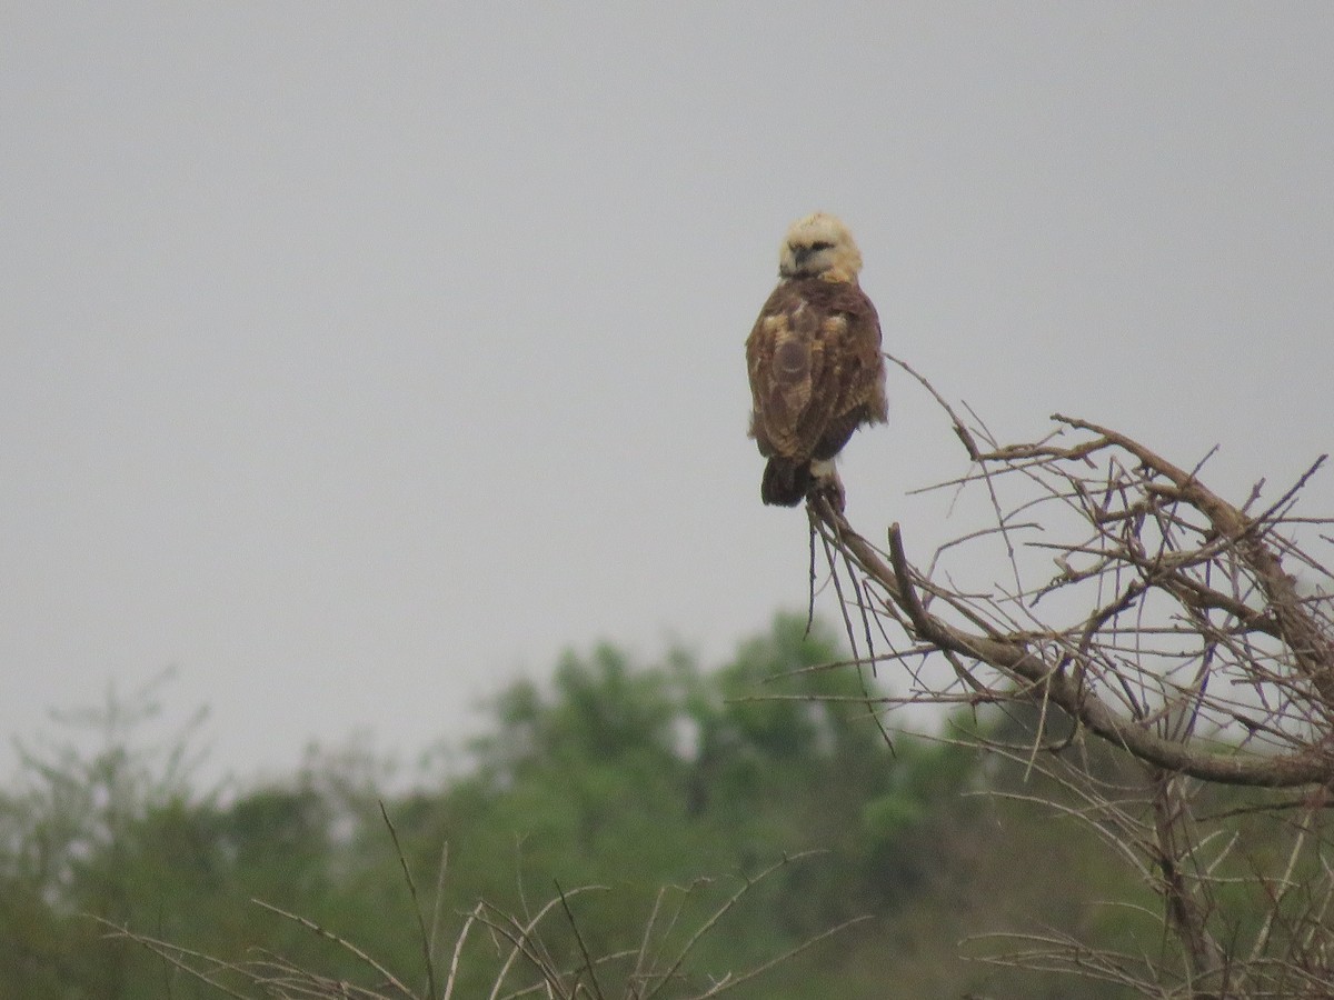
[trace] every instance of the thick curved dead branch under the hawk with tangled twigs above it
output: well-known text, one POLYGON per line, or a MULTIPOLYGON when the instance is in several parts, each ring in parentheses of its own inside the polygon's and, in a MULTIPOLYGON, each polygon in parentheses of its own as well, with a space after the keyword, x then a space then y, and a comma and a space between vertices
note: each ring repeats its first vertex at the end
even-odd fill
MULTIPOLYGON (((958 425, 952 411, 950 417, 958 425)), ((930 579, 908 561, 898 524, 888 529, 886 556, 818 497, 812 519, 826 544, 864 575, 862 591, 867 599, 879 596, 879 612, 919 648, 947 659, 951 672, 978 695, 1050 700, 1143 763, 1205 781, 1298 787, 1334 780, 1330 604, 1302 596, 1283 569, 1275 539, 1286 519, 1274 508, 1262 517, 1245 516, 1195 472, 1115 431, 1059 415, 1054 420, 1090 437, 984 453, 975 443, 967 448, 987 475, 964 483, 990 484, 1022 467, 1025 477, 1043 487, 1038 500, 1023 507, 1058 505, 1073 523, 1065 539, 1041 544, 1055 552, 1061 572, 1021 583, 1017 592, 995 584, 963 592, 930 579), (1039 599, 1094 588, 1111 588, 1115 597, 1067 621, 1037 616, 1039 599), (934 612, 932 605, 944 611, 934 612), (1026 619, 1022 628, 998 625, 1015 621, 1015 612, 1026 619), (1130 632, 1141 645, 1127 656, 1117 637, 1131 620, 1139 623, 1130 632), (1150 651, 1142 643, 1150 632, 1175 641, 1150 651), (1174 677, 1187 667, 1193 681, 1183 687, 1174 677), (1253 725, 1242 721, 1249 701, 1238 700, 1247 688, 1274 705, 1253 725), (1117 689, 1122 695, 1114 697, 1117 689), (1187 691, 1194 693, 1187 697, 1187 691), (1255 739, 1247 745, 1182 739, 1163 723, 1187 701, 1194 732, 1217 737, 1241 724, 1255 739), (1127 712, 1126 704, 1135 708, 1127 712)), ((1010 515, 996 508, 1002 524, 1010 515)), ((1050 536, 1051 524, 1045 527, 1050 536)), ((967 549, 986 539, 986 532, 970 532, 950 544, 967 549)), ((1303 561, 1315 564, 1309 556, 1303 561)), ((931 695, 923 692, 919 700, 931 695)))

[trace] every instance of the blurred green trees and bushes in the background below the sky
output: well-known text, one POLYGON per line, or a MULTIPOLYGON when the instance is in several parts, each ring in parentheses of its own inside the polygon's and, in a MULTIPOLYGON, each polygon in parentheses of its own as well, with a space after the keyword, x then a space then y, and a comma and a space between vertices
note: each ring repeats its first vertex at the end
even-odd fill
MULTIPOLYGON (((0 793, 0 996, 217 995, 91 916, 229 961, 263 948, 375 980, 348 949, 252 899, 354 941, 414 989, 426 984, 419 920, 438 912, 435 961, 447 964, 478 900, 532 915, 562 891, 603 885, 570 901, 578 937, 563 909, 543 923, 554 960, 634 951, 654 913, 668 953, 748 879, 811 849, 823 853, 780 865, 718 921, 682 985, 867 913, 876 920, 730 995, 884 996, 894 968, 899 996, 1061 996, 1041 977, 960 963, 956 941, 1033 927, 1033 915, 1137 940, 1139 924, 1090 905, 1125 880, 1095 836, 978 795, 1025 788, 1014 767, 979 767, 943 741, 891 748, 867 708, 874 679, 826 668, 839 656, 828 632, 807 635, 790 616, 711 672, 680 652, 652 664, 610 645, 567 653, 548 685, 502 692, 462 777, 394 796, 378 763, 356 755, 312 757, 289 781, 239 795, 200 793, 188 733, 163 749, 137 741, 152 692, 139 696, 147 705, 112 699, 79 717, 103 735, 93 752, 29 753, 23 783, 0 793), (662 887, 679 888, 659 901, 662 887)), ((1141 901, 1153 905, 1147 892, 1141 901)), ((490 940, 474 931, 455 996, 490 991, 503 960, 490 940)))

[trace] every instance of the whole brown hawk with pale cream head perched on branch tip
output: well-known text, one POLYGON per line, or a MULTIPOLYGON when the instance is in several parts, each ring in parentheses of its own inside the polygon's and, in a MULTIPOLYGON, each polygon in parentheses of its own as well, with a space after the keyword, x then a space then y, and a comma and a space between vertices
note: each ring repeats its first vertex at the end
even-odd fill
POLYGON ((766 504, 796 507, 824 483, 842 507, 834 456, 858 427, 887 419, 880 319, 860 269, 852 233, 824 212, 792 223, 779 248, 778 287, 746 339, 766 504))

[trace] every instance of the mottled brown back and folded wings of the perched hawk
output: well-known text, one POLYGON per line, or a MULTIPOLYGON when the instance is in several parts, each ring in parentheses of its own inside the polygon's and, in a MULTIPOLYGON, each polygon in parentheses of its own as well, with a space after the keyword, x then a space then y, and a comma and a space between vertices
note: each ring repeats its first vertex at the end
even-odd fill
POLYGON ((875 307, 852 283, 784 281, 746 341, 751 436, 766 456, 831 459, 886 419, 875 307))

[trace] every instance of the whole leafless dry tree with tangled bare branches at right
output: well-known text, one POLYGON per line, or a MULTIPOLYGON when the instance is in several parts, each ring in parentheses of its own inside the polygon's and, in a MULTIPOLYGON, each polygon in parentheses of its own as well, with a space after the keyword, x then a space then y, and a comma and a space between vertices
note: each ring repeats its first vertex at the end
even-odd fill
POLYGON ((1155 997, 1334 997, 1334 599, 1314 555, 1334 539, 1295 512, 1325 457, 1237 505, 1202 465, 1075 417, 1002 447, 890 360, 966 451, 932 488, 976 493, 987 523, 914 563, 898 524, 882 547, 811 495, 859 663, 907 668, 878 708, 1022 712, 1022 737, 968 740, 1041 776, 1161 900, 1157 948, 995 935, 984 960, 1155 997))

